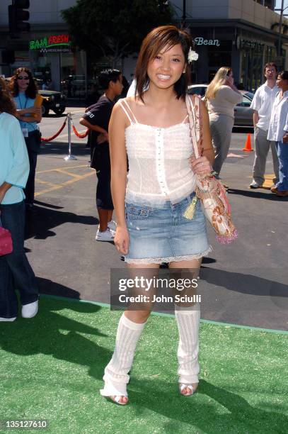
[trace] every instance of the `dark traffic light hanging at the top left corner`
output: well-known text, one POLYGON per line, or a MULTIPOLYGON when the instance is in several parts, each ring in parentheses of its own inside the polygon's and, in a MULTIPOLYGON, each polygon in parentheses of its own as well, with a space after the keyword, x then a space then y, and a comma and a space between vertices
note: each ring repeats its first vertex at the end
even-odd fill
POLYGON ((27 22, 30 13, 25 10, 29 7, 29 0, 12 0, 12 4, 8 6, 9 32, 11 35, 30 30, 30 24, 27 22))

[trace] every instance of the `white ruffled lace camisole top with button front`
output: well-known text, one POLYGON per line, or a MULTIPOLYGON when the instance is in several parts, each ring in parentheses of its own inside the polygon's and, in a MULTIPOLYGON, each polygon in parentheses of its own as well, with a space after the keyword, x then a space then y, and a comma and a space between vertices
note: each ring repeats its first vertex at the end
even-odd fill
POLYGON ((139 123, 125 99, 119 101, 130 125, 125 129, 129 173, 125 201, 156 206, 180 202, 195 191, 189 123, 167 128, 139 123))

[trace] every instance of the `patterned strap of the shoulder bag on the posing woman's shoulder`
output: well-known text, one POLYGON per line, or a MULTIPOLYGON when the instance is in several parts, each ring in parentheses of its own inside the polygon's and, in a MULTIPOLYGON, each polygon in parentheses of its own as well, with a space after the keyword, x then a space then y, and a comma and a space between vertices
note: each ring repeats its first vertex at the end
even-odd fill
POLYGON ((186 106, 189 117, 190 124, 190 136, 192 140, 193 150, 196 158, 202 155, 203 145, 202 145, 202 122, 200 113, 200 98, 195 96, 194 102, 192 103, 190 96, 186 95, 186 106))

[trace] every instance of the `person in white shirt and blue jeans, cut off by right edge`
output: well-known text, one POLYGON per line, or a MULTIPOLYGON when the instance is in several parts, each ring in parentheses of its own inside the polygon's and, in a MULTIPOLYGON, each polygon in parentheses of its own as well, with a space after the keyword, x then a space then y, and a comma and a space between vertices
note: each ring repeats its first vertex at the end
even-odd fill
POLYGON ((277 196, 288 196, 288 71, 282 71, 277 77, 280 89, 272 107, 267 139, 275 142, 279 158, 279 182, 271 188, 277 196))

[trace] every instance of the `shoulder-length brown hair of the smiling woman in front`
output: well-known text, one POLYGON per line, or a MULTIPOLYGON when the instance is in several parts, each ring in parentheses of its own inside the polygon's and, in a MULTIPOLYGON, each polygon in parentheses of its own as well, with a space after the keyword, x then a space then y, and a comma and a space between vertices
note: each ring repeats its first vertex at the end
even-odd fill
POLYGON ((154 57, 156 57, 156 55, 163 50, 163 48, 170 50, 170 48, 177 44, 180 44, 182 47, 185 63, 187 65, 185 74, 181 74, 178 82, 175 82, 174 90, 178 99, 185 99, 185 94, 187 92, 188 84, 190 84, 191 75, 191 68, 188 63, 188 52, 190 47, 194 47, 194 43, 192 42, 192 38, 189 33, 185 30, 180 30, 175 26, 160 26, 154 28, 150 33, 148 33, 148 35, 146 35, 146 38, 142 42, 137 60, 135 69, 135 79, 137 81, 135 96, 138 94, 142 101, 144 89, 149 84, 149 77, 147 74, 149 62, 153 60, 154 57))

